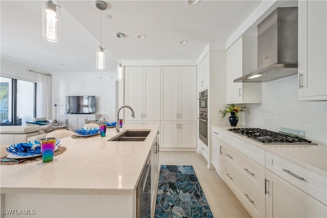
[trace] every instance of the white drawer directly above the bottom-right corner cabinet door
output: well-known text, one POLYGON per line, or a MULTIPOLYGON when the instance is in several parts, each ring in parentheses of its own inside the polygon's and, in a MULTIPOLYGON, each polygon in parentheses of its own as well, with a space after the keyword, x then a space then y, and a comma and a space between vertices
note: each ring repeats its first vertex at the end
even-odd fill
POLYGON ((266 152, 266 168, 327 205, 326 177, 270 152, 266 152))

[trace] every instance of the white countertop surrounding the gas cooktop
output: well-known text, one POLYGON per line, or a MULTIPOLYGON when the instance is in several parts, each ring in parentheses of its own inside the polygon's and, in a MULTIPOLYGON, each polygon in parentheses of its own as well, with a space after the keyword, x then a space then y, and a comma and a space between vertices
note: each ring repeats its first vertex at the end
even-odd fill
MULTIPOLYGON (((243 139, 257 147, 278 155, 286 160, 296 163, 302 167, 319 173, 322 176, 327 176, 327 146, 323 144, 318 145, 263 145, 244 136, 230 132, 229 125, 212 125, 213 127, 223 130, 224 133, 243 139)), ((237 126, 249 127, 249 126, 237 126)))

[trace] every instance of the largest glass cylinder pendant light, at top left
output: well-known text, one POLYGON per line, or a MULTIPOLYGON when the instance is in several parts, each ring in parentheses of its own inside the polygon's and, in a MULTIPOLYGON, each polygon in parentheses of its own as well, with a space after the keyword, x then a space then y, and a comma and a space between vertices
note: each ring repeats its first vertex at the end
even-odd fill
POLYGON ((42 36, 51 42, 59 41, 60 6, 49 1, 42 3, 42 36))

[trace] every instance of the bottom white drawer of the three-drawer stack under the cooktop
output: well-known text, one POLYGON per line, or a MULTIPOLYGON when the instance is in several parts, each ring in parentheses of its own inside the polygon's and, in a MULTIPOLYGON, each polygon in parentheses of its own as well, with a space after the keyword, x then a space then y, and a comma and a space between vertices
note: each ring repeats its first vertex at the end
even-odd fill
POLYGON ((224 181, 252 217, 265 217, 265 198, 244 182, 242 172, 224 162, 224 181))

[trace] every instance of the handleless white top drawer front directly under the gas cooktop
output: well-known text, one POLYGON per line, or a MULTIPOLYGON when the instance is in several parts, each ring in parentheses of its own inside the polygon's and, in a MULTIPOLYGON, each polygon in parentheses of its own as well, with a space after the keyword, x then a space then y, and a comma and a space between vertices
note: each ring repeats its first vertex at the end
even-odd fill
POLYGON ((251 158, 262 166, 265 166, 265 150, 252 145, 243 139, 224 133, 224 142, 237 149, 245 156, 251 158))

